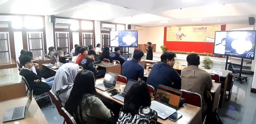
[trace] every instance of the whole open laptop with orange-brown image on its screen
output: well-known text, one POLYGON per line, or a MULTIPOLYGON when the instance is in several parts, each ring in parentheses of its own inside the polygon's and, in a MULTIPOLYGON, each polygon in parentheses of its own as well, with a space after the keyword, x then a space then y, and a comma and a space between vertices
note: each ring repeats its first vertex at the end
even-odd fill
POLYGON ((156 110, 160 118, 166 119, 177 111, 181 95, 182 91, 159 84, 150 108, 156 110))

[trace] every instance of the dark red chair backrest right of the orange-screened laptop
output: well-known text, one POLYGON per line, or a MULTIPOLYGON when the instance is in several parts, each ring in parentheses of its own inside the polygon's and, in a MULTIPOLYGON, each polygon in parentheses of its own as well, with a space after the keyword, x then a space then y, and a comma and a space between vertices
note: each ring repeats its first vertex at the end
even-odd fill
POLYGON ((186 91, 186 90, 181 90, 182 91, 182 98, 185 99, 184 103, 188 103, 190 105, 194 105, 197 107, 202 107, 202 97, 198 93, 186 91))

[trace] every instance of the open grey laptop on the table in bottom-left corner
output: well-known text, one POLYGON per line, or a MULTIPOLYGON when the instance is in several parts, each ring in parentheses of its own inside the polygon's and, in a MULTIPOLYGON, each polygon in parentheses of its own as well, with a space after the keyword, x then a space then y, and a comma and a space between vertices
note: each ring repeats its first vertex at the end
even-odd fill
POLYGON ((3 122, 20 120, 26 117, 26 113, 28 112, 28 107, 32 101, 33 93, 30 93, 26 106, 8 108, 5 111, 3 122))

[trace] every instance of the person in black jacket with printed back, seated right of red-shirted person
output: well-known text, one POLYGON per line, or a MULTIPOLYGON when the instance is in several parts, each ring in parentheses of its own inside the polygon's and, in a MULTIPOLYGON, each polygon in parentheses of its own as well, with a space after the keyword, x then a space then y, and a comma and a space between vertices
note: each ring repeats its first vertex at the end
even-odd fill
POLYGON ((98 66, 94 65, 93 58, 95 55, 96 55, 96 53, 94 50, 89 50, 87 57, 81 61, 81 66, 84 68, 84 70, 90 70, 90 71, 94 72, 94 75, 96 76, 96 74, 98 72, 97 71, 98 66))

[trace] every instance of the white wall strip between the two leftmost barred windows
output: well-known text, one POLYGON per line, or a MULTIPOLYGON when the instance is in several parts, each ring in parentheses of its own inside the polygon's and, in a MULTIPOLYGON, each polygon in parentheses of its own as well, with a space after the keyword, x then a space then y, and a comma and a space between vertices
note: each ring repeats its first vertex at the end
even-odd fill
POLYGON ((14 47, 15 47, 15 55, 16 60, 19 60, 20 57, 20 50, 23 49, 23 42, 22 42, 22 31, 14 31, 14 47))

